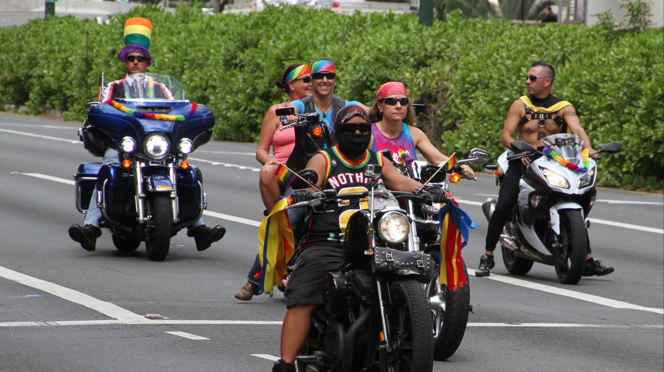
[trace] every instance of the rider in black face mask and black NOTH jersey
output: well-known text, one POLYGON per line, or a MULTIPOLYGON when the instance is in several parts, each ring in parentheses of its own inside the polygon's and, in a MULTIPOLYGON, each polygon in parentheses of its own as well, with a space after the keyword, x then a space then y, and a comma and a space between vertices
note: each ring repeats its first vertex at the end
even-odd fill
MULTIPOLYGON (((390 162, 384 162, 382 154, 368 150, 371 141, 371 123, 366 111, 359 105, 339 109, 333 127, 338 143, 334 147, 318 151, 306 165, 318 174, 317 187, 334 189, 337 194, 369 190, 365 177, 368 164, 382 166, 382 181, 390 190, 412 192, 422 184, 402 175, 390 162)), ((311 190, 297 190, 291 202, 311 200, 311 190)), ((434 201, 445 200, 445 193, 438 186, 428 186, 427 192, 434 201)), ((305 218, 305 235, 300 245, 295 269, 286 287, 288 311, 282 326, 281 357, 272 371, 295 371, 295 355, 304 345, 309 334, 311 313, 323 304, 323 280, 325 274, 339 271, 344 264, 343 244, 345 223, 353 210, 361 204, 349 203, 337 210, 308 213, 305 218), (348 213, 351 211, 351 213, 348 213)))

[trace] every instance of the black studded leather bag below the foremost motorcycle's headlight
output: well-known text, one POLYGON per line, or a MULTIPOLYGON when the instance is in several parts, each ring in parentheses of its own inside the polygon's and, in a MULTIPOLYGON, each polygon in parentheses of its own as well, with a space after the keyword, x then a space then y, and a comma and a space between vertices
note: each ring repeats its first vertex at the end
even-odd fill
POLYGON ((376 275, 412 276, 418 282, 428 283, 436 267, 431 255, 397 249, 376 247, 371 270, 376 275))

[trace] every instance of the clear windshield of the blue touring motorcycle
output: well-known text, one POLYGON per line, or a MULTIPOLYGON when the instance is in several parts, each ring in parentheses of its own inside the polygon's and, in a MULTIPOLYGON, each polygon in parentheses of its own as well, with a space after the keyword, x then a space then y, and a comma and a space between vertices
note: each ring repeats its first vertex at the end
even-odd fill
POLYGON ((113 87, 114 99, 154 99, 181 101, 185 99, 185 90, 177 79, 166 74, 131 74, 125 76, 113 87))

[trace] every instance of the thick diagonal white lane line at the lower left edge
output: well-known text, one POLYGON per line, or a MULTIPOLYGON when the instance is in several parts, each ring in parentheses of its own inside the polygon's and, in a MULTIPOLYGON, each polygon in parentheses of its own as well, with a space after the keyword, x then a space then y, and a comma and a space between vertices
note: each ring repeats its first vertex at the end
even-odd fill
POLYGON ((46 280, 30 277, 29 275, 21 274, 17 271, 13 271, 1 266, 0 277, 13 280, 26 286, 37 288, 44 292, 53 294, 54 296, 58 296, 76 304, 86 306, 87 308, 91 308, 92 310, 100 312, 110 318, 124 320, 125 322, 129 323, 150 322, 150 320, 143 318, 143 316, 134 314, 133 312, 125 310, 116 304, 98 300, 92 296, 88 296, 87 294, 78 292, 76 290, 66 288, 64 286, 59 286, 58 284, 47 282, 46 280))

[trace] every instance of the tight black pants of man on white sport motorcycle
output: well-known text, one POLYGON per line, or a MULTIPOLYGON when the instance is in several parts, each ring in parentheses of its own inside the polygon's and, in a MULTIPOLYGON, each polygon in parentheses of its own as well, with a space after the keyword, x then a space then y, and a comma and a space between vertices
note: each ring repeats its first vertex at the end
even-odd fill
MULTIPOLYGON (((521 159, 511 160, 503 182, 501 183, 500 190, 498 191, 498 202, 496 203, 495 210, 489 219, 489 227, 487 228, 487 239, 485 249, 493 252, 496 249, 500 235, 505 227, 505 222, 512 214, 514 206, 517 204, 519 198, 519 180, 526 172, 526 166, 521 162, 521 159)), ((587 254, 590 255, 590 239, 588 238, 588 230, 586 229, 586 241, 588 242, 587 254)))

